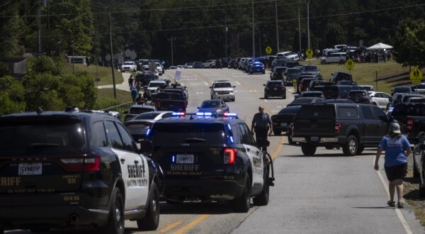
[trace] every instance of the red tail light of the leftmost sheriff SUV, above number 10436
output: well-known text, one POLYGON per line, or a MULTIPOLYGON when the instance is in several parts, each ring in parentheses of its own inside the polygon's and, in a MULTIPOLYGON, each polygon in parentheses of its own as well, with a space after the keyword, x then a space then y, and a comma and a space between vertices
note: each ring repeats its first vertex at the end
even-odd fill
POLYGON ((101 165, 101 157, 69 157, 60 160, 67 172, 95 172, 101 165))

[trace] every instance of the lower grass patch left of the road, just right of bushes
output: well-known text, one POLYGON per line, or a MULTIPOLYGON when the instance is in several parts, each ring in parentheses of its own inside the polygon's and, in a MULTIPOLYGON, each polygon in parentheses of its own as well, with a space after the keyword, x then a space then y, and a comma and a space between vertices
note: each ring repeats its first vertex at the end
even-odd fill
POLYGON ((126 102, 132 101, 129 91, 116 90, 117 98, 113 98, 113 89, 98 89, 95 109, 103 109, 111 106, 118 106, 126 102))

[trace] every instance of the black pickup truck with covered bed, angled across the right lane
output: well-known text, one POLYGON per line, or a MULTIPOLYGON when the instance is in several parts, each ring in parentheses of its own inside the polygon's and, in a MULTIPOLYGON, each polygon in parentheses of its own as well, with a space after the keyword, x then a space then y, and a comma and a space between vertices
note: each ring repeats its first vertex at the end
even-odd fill
POLYGON ((364 147, 377 147, 387 134, 387 115, 369 104, 311 104, 295 117, 293 142, 304 155, 314 155, 318 146, 342 147, 344 155, 357 155, 364 147))

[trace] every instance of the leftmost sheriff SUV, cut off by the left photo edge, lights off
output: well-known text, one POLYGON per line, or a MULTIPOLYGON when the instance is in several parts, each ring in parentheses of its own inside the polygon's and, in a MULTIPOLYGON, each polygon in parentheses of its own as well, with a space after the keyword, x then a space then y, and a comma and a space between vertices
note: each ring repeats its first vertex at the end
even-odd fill
POLYGON ((0 132, 0 233, 157 229, 159 169, 117 118, 40 110, 0 117, 0 132))

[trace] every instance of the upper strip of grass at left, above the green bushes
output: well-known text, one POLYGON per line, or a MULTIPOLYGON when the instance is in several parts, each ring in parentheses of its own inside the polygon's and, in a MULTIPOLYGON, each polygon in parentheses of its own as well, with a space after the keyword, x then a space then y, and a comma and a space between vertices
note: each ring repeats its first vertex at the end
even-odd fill
MULTIPOLYGON (((66 67, 72 70, 72 63, 66 63, 66 67)), ((86 65, 74 64, 74 69, 76 71, 89 72, 90 74, 93 74, 93 76, 96 78, 96 65, 90 65, 90 67, 87 67, 86 65)), ((121 72, 118 72, 118 70, 116 69, 114 69, 114 72, 115 72, 115 84, 123 83, 123 76, 121 75, 121 72)), ((113 84, 111 67, 98 66, 98 74, 99 74, 99 78, 101 78, 101 81, 96 82, 96 86, 113 84)))

